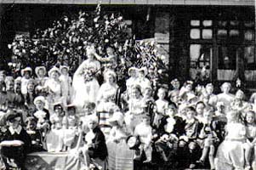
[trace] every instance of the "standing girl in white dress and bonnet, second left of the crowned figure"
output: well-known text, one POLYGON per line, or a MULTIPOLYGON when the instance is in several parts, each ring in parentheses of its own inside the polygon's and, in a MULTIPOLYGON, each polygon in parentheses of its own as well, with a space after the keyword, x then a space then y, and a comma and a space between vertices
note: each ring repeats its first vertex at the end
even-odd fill
POLYGON ((57 67, 53 67, 48 71, 48 80, 45 82, 44 88, 46 88, 48 95, 48 111, 53 112, 53 105, 57 102, 62 102, 62 84, 60 82, 60 70, 57 67))

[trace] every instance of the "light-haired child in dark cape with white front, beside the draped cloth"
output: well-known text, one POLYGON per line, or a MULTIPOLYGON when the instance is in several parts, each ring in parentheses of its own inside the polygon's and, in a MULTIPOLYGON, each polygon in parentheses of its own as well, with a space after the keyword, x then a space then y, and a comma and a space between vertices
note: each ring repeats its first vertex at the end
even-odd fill
MULTIPOLYGON (((96 158, 104 161, 107 154, 107 148, 105 144, 104 133, 101 132, 100 127, 98 127, 98 117, 88 116, 88 128, 89 132, 85 135, 85 144, 78 151, 79 154, 82 153, 82 161, 85 164, 85 169, 90 169, 90 164, 96 158)), ((95 164, 95 163, 94 163, 95 164)), ((100 165, 96 165, 98 169, 102 168, 100 165)))

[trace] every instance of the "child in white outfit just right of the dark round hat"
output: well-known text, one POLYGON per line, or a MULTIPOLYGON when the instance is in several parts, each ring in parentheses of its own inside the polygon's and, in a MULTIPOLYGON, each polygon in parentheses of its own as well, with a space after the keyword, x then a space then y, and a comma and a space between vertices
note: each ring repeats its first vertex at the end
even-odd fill
POLYGON ((139 136, 139 141, 141 142, 139 145, 140 155, 143 151, 145 152, 146 160, 144 162, 149 162, 152 158, 152 127, 150 125, 150 121, 150 116, 143 115, 142 121, 134 129, 134 135, 139 136))

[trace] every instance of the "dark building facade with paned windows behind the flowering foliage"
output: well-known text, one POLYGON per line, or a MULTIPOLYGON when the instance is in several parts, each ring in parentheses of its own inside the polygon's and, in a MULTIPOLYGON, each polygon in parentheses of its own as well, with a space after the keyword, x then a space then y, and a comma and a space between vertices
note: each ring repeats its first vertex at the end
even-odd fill
MULTIPOLYGON (((93 0, 0 1, 2 55, 17 32, 45 29, 63 14, 94 10, 93 0)), ((102 0, 102 10, 120 12, 136 39, 155 37, 168 58, 170 79, 209 78, 255 88, 253 0, 102 0), (204 77, 202 77, 204 76, 204 77)))

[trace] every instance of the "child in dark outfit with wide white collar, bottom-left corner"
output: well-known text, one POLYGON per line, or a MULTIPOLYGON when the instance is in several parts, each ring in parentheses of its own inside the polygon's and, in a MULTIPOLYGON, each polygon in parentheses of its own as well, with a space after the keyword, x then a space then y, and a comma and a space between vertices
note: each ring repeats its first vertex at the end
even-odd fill
POLYGON ((26 154, 31 149, 31 138, 21 127, 19 114, 9 113, 7 116, 9 128, 1 142, 1 156, 7 169, 20 168, 25 170, 26 154), (13 164, 13 166, 11 165, 13 164))

